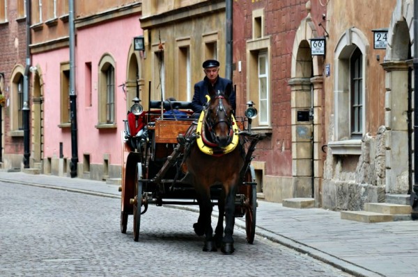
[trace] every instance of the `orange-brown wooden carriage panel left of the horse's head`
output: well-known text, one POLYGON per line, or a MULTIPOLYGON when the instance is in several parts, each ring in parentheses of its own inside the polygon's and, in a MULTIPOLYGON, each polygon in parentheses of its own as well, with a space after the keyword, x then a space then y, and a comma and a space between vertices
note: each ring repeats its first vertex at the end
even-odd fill
POLYGON ((191 120, 155 121, 155 143, 177 143, 178 134, 186 133, 191 120))

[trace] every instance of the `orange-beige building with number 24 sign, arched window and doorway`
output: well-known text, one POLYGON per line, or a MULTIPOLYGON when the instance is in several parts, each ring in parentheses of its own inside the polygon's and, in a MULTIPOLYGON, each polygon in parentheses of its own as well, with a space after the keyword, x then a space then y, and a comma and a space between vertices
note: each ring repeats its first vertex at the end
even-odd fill
POLYGON ((413 1, 382 2, 327 1, 323 208, 408 203, 413 1))

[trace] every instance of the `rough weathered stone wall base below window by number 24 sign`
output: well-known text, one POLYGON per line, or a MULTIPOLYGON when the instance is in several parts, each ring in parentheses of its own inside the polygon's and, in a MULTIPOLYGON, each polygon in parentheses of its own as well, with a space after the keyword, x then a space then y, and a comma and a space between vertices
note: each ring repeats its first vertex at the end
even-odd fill
POLYGON ((363 210, 364 203, 385 202, 385 142, 387 131, 364 135, 360 156, 336 156, 327 151, 324 166, 323 208, 363 210))

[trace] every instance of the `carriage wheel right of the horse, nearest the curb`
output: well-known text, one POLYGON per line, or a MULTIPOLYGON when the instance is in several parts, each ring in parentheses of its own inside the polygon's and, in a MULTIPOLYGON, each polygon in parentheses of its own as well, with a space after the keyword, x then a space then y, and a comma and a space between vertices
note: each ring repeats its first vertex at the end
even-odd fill
POLYGON ((245 174, 245 181, 250 182, 247 185, 247 200, 245 205, 245 231, 249 244, 254 242, 254 236, 256 235, 257 185, 253 183, 254 180, 254 168, 249 167, 245 174))

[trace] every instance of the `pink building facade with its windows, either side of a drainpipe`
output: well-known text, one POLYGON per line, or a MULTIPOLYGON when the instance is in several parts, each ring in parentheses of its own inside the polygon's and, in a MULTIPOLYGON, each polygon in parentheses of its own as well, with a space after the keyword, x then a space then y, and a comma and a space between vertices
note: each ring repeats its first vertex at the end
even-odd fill
MULTIPOLYGON (((140 9, 139 9, 140 11, 140 9)), ((77 177, 119 180, 123 163, 122 132, 127 108, 137 90, 141 58, 133 38, 141 35, 140 12, 102 20, 75 20, 75 94, 77 101, 77 177), (109 93, 113 96, 109 96, 109 93), (107 99, 110 97, 111 99, 107 99), (109 115, 104 115, 107 110, 109 115)), ((33 53, 32 121, 40 117, 40 167, 44 174, 70 176, 70 51, 68 47, 33 53), (40 110, 39 115, 36 115, 40 110)), ((32 137, 36 137, 34 131, 32 137)), ((33 138, 33 141, 36 139, 33 138)), ((34 145, 33 145, 34 146, 34 145)), ((35 146, 34 146, 35 147, 35 146)), ((36 156, 35 151, 32 152, 36 156)))

